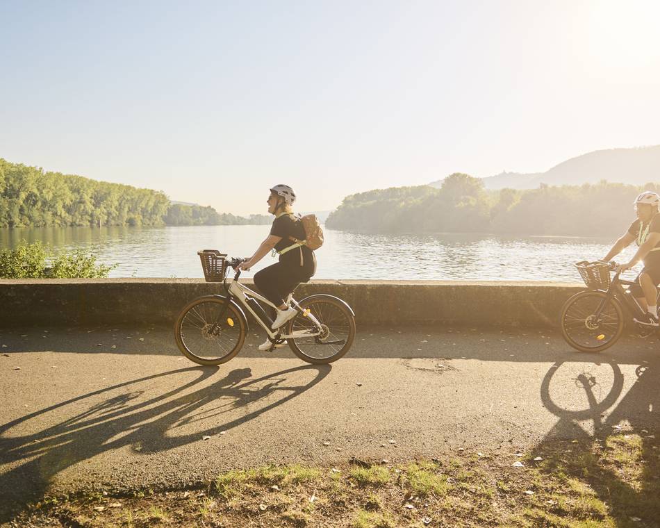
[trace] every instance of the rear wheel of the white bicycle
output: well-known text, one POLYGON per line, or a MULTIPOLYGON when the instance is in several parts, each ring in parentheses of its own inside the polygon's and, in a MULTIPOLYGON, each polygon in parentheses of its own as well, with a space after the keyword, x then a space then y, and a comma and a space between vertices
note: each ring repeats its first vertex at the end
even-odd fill
POLYGON ((342 357, 355 338, 355 317, 345 302, 331 295, 313 295, 302 299, 302 313, 289 323, 288 334, 315 332, 311 314, 321 324, 320 336, 288 339, 293 353, 307 363, 332 363, 342 357))

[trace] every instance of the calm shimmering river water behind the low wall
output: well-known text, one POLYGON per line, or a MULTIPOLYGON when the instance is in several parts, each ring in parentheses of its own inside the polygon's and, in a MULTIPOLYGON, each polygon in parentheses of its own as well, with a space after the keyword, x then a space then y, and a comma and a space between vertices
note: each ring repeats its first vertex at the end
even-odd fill
MULTIPOLYGON (((249 256, 269 226, 52 227, 0 229, 0 249, 21 240, 93 251, 118 264, 110 277, 204 277, 199 249, 249 256)), ((490 234, 376 235, 325 229, 316 279, 579 281, 571 264, 602 258, 602 238, 490 234)), ((618 259, 634 254, 634 247, 618 259)), ((266 256, 254 271, 274 262, 266 256)), ((630 273, 632 276, 632 272, 630 273)), ((251 273, 245 273, 251 277, 251 273)))

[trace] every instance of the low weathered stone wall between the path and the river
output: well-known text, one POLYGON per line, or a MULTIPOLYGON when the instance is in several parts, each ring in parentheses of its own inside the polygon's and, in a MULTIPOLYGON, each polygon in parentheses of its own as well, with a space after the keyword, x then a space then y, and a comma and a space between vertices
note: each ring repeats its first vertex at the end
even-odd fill
MULTIPOLYGON (((295 297, 320 292, 341 297, 358 324, 556 327, 561 305, 581 289, 551 282, 311 281, 299 286, 295 297)), ((211 293, 222 293, 222 284, 202 279, 0 280, 0 327, 173 324, 188 301, 211 293)))

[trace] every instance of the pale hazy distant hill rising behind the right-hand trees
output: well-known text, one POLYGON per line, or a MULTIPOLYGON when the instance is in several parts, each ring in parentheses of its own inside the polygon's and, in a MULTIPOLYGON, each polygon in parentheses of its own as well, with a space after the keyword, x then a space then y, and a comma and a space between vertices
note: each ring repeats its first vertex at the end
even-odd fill
MULTIPOLYGON (((555 165, 547 172, 502 172, 482 178, 486 189, 536 189, 547 185, 582 185, 602 180, 644 185, 660 180, 660 145, 597 150, 555 165)), ((429 183, 440 188, 443 180, 429 183)))

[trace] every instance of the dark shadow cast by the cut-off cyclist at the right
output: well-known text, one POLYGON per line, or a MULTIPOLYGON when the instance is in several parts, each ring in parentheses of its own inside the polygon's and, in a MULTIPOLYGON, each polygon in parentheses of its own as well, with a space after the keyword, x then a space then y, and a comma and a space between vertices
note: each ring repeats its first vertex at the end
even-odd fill
MULTIPOLYGON (((568 470, 573 475, 579 475, 586 480, 597 496, 608 504, 613 517, 628 522, 630 518, 642 518, 646 522, 657 522, 660 518, 660 502, 658 501, 657 470, 649 461, 659 456, 654 434, 660 432, 660 370, 650 366, 638 366, 635 370, 636 381, 630 385, 623 397, 625 374, 616 361, 595 363, 595 370, 581 367, 580 372, 572 372, 570 377, 574 382, 574 397, 568 396, 572 402, 586 400, 582 409, 576 409, 577 404, 561 406, 555 399, 567 401, 566 395, 553 394, 552 378, 561 368, 558 361, 547 372, 541 384, 541 399, 546 409, 559 417, 559 422, 548 432, 545 438, 536 446, 538 452, 555 452, 544 470, 556 475, 559 469, 568 470), (611 365, 612 375, 602 376, 603 365, 611 365), (604 384, 604 390, 601 386, 604 384), (553 398, 554 396, 554 398, 553 398), (593 434, 586 429, 593 427, 593 434), (620 434, 628 436, 620 438, 620 434), (612 438, 617 435, 618 438, 612 438), (636 440, 637 436, 639 440, 636 440), (577 442, 566 449, 566 438, 577 442), (561 441, 563 439, 563 443, 561 441), (633 447, 639 441, 639 447, 633 447), (624 470, 615 465, 598 463, 603 449, 611 448, 610 443, 629 442, 629 446, 638 449, 636 464, 638 470, 637 482, 624 478, 624 470), (655 448, 654 448, 655 447, 655 448), (559 449, 559 451, 557 451, 559 449), (566 463, 559 468, 559 460, 566 463)), ((555 386, 556 387, 556 386, 555 386)), ((561 388, 561 384, 560 387, 561 388)), ((566 388, 566 385, 564 386, 566 388)), ((558 391, 559 392, 559 391, 558 391)), ((656 526, 651 524, 652 526, 656 526)))

